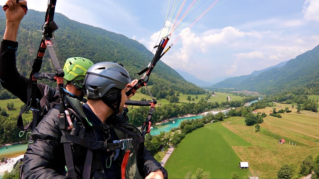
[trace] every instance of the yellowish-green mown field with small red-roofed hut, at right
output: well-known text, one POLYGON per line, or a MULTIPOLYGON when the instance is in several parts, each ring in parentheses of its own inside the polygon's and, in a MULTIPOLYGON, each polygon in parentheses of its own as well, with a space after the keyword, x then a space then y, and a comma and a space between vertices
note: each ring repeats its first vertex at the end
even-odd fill
POLYGON ((254 126, 246 126, 243 117, 228 118, 222 125, 253 145, 233 147, 243 161, 249 161, 251 173, 260 178, 276 178, 278 169, 289 164, 294 177, 298 177, 302 161, 309 154, 314 158, 319 154, 319 113, 301 111, 297 114, 297 110, 287 104, 277 105, 281 105, 276 107, 277 111, 289 107, 292 112, 280 114, 282 118, 277 118, 268 115, 271 107, 258 109, 258 112, 267 114, 260 124, 260 132, 255 132, 254 126), (286 143, 279 144, 278 140, 282 138, 286 143), (297 146, 289 145, 289 141, 297 146))

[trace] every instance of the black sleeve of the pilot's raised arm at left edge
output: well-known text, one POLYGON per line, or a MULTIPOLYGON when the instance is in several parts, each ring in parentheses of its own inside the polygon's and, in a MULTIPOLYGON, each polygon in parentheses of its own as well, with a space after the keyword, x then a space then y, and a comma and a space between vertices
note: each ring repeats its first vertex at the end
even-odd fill
MULTIPOLYGON (((2 87, 19 97, 23 103, 27 103, 29 78, 18 72, 16 67, 17 49, 18 42, 2 39, 0 46, 0 82, 2 87)), ((37 98, 39 100, 44 95, 44 87, 44 84, 38 83, 37 98)))

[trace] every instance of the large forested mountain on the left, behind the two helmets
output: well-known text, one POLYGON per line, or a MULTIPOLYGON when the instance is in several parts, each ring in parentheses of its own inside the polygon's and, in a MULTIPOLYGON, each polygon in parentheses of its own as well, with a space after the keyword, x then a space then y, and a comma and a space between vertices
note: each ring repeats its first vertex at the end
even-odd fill
MULTIPOLYGON (((44 16, 44 12, 30 9, 20 24, 17 38, 19 42, 17 68, 25 76, 28 76, 31 71, 33 59, 40 45, 44 16)), ((62 67, 67 58, 80 56, 94 63, 103 61, 122 63, 132 79, 138 78, 134 74, 141 70, 151 53, 144 45, 122 34, 70 20, 61 13, 55 13, 54 18, 59 29, 55 33, 56 40, 53 45, 62 67)), ((1 39, 4 35, 5 20, 5 12, 0 11, 1 39)), ((152 56, 146 65, 152 60, 152 56)), ((41 72, 54 72, 48 57, 46 52, 41 72)), ((152 84, 179 90, 182 93, 204 94, 205 92, 204 89, 184 80, 162 61, 159 61, 153 70, 148 85, 152 84)), ((156 97, 156 94, 154 96, 156 97)))

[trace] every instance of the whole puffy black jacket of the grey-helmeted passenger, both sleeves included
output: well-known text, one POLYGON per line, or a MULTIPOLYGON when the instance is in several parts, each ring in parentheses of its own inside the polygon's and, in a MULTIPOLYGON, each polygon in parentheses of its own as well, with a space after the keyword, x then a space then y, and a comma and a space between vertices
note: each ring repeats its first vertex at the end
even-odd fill
MULTIPOLYGON (((39 125, 33 130, 33 134, 48 134, 56 138, 61 138, 62 132, 59 129, 58 121, 59 110, 53 108, 41 120, 39 125)), ((72 135, 78 135, 81 129, 80 121, 74 119, 73 128, 70 131, 72 135)), ((84 123, 82 123, 83 125, 84 123)), ((130 137, 130 136, 129 136, 130 137)), ((85 129, 84 139, 94 140, 94 132, 87 127, 85 129)), ((73 145, 73 158, 77 175, 81 177, 84 169, 86 148, 82 146, 73 145)), ((93 151, 93 161, 91 168, 91 178, 106 178, 100 163, 100 152, 93 151)), ((118 169, 119 177, 121 178, 121 161, 119 157, 117 160, 112 161, 118 169), (115 163, 114 163, 115 162, 115 163)), ((144 147, 144 163, 143 175, 147 176, 149 173, 160 170, 167 178, 167 171, 154 159, 149 150, 144 147)), ((63 145, 60 140, 35 140, 34 143, 28 145, 28 149, 24 155, 23 173, 24 178, 69 178, 65 170, 66 162, 64 156, 63 145)))

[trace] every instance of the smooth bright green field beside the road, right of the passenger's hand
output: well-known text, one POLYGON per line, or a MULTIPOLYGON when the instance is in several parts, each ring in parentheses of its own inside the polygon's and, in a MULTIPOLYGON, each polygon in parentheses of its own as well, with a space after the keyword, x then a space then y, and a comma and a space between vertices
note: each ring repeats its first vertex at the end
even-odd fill
POLYGON ((232 146, 249 148, 251 144, 221 123, 211 123, 187 134, 165 165, 169 178, 185 178, 197 168, 209 171, 210 178, 230 178, 233 171, 247 177, 249 170, 239 168, 241 159, 232 146))

